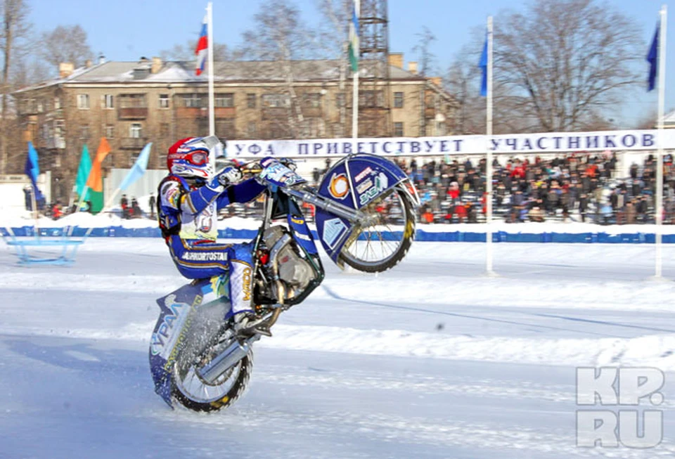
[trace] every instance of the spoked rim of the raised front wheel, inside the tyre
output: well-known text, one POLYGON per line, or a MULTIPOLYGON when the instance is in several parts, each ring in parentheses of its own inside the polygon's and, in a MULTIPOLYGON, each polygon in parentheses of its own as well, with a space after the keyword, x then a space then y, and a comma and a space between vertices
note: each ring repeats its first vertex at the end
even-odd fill
POLYGON ((367 216, 378 216, 374 224, 356 227, 342 248, 347 264, 380 266, 394 258, 403 245, 405 227, 409 218, 401 191, 373 200, 361 208, 367 216))

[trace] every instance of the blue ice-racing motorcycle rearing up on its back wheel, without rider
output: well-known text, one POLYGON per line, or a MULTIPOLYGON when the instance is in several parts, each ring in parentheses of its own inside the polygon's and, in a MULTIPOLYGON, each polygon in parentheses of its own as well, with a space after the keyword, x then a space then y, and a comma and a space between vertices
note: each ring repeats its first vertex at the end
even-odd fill
MULTIPOLYGON (((262 224, 251 243, 255 313, 266 330, 321 284, 324 270, 315 238, 340 268, 366 273, 392 268, 411 246, 418 193, 385 158, 344 157, 316 189, 295 172, 292 160, 266 158, 245 164, 242 172, 266 186, 262 224), (314 206, 316 236, 299 203, 314 206)), ((262 335, 233 330, 227 276, 193 280, 157 300, 150 370, 155 392, 169 406, 221 410, 248 385, 252 346, 262 335)))

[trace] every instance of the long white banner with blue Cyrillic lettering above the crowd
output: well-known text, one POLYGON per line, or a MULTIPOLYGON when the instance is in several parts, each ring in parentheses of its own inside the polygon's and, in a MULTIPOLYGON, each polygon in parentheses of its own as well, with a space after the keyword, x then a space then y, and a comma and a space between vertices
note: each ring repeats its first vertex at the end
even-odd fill
MULTIPOLYGON (((526 154, 656 150, 658 131, 545 132, 491 136, 494 153, 526 154)), ((301 141, 229 141, 228 157, 444 156, 486 153, 486 136, 330 138, 301 141)), ((664 131, 664 148, 675 149, 675 129, 664 131)))

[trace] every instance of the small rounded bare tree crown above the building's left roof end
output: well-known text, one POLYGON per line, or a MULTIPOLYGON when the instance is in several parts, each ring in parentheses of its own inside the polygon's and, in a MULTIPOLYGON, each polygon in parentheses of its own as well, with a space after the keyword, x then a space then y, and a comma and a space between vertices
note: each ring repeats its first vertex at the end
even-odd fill
POLYGON ((79 25, 59 25, 42 34, 39 56, 56 70, 60 63, 69 62, 75 68, 94 58, 87 43, 86 32, 79 25))

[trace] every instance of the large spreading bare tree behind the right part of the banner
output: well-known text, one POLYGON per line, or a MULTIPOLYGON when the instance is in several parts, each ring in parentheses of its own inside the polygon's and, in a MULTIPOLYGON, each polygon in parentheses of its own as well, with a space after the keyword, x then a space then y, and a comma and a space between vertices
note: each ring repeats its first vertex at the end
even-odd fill
POLYGON ((640 45, 634 20, 610 4, 534 0, 495 20, 495 84, 533 129, 581 129, 636 83, 640 45))

